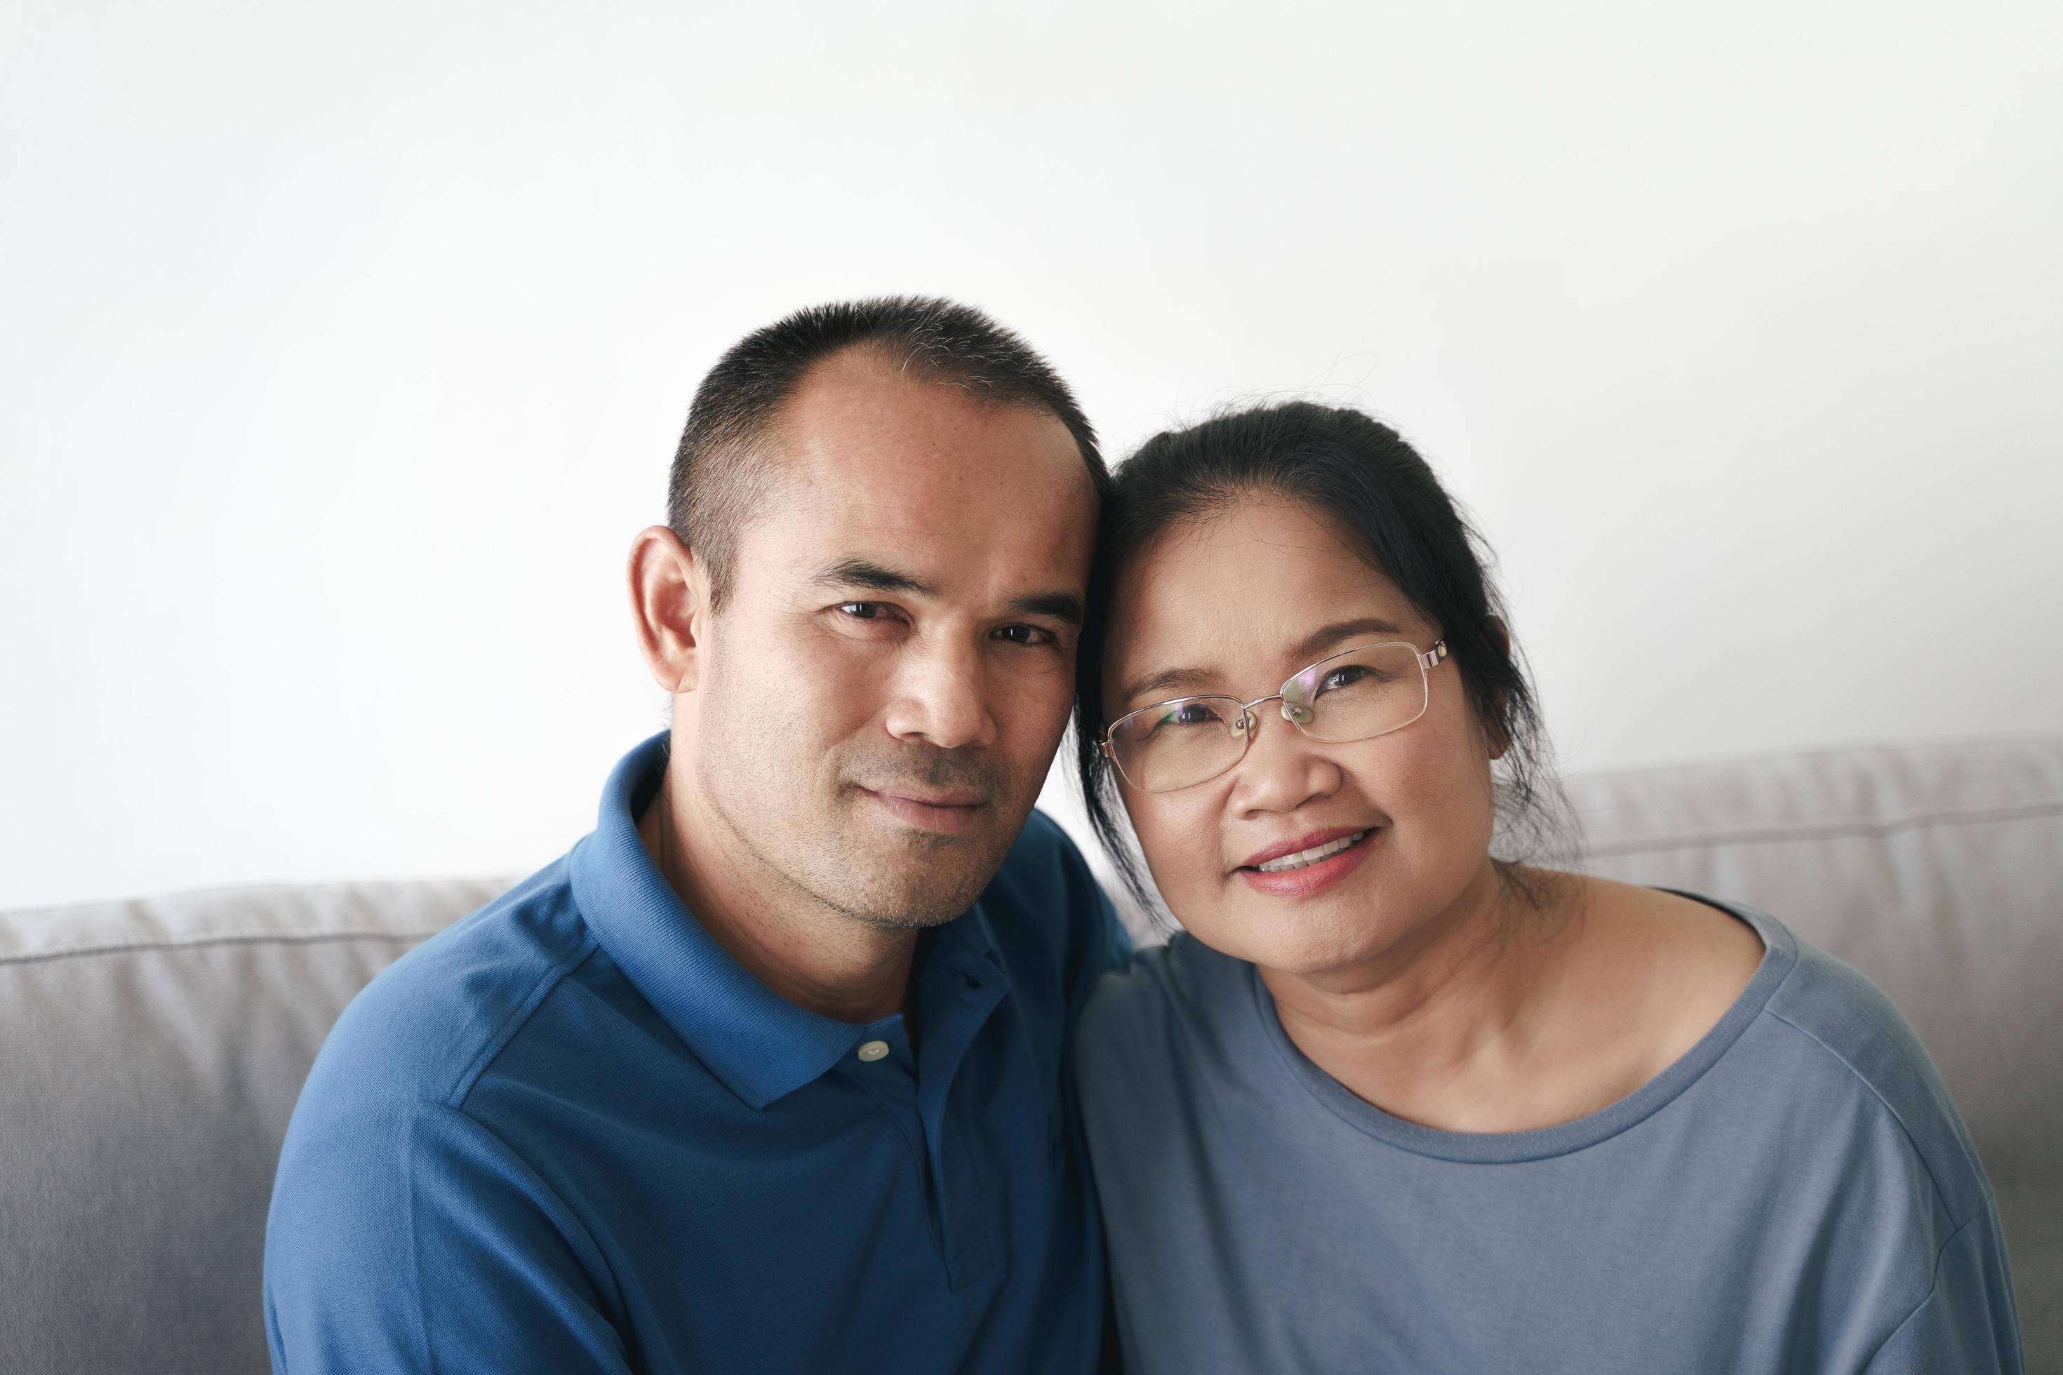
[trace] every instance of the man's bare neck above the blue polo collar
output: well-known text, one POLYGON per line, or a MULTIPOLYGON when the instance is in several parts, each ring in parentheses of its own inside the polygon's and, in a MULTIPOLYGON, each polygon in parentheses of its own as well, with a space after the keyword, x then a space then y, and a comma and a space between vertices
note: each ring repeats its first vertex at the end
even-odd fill
POLYGON ((767 872, 720 816, 697 814, 677 777, 668 767, 637 835, 710 938, 809 1012, 842 1022, 902 1012, 918 932, 869 926, 767 872))

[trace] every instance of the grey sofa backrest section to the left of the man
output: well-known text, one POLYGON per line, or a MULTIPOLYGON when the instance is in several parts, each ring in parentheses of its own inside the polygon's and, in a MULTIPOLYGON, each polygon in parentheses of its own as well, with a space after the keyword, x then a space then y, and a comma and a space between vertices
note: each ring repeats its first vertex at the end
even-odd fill
POLYGON ((260 1257, 345 1004, 501 882, 0 915, 0 1371, 266 1371, 260 1257))

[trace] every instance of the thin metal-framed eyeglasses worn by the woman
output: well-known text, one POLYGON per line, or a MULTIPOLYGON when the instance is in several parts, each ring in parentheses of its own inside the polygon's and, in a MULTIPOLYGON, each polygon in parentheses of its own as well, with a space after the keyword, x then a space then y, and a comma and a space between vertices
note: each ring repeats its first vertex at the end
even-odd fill
POLYGON ((1426 715, 1430 674, 1446 660, 1446 641, 1426 653, 1417 645, 1382 643, 1318 660, 1283 682, 1279 693, 1238 697, 1176 697, 1120 715, 1104 732, 1104 757, 1141 792, 1174 792, 1215 779, 1246 759, 1260 730, 1254 707, 1279 701, 1283 719, 1308 740, 1345 744, 1403 730, 1426 715))

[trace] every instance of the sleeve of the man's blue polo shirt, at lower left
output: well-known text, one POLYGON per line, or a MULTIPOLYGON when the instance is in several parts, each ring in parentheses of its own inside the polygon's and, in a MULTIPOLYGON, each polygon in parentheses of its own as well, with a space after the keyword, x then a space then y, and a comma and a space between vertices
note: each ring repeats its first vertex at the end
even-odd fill
POLYGON ((413 1103, 289 1140, 266 1225, 276 1375, 629 1371, 598 1247, 464 1113, 413 1103))

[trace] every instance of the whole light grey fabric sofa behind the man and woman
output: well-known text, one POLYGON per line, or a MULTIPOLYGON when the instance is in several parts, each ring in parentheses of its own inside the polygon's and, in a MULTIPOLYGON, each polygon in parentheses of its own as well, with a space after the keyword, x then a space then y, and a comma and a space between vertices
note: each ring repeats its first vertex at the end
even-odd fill
MULTIPOLYGON (((1906 1012, 1997 1187, 2028 1369, 2063 1371, 2063 740, 1570 794, 1597 872, 1764 907, 1906 1012)), ((0 913, 0 1371, 266 1369, 264 1212, 316 1047, 388 961, 501 886, 0 913)))

